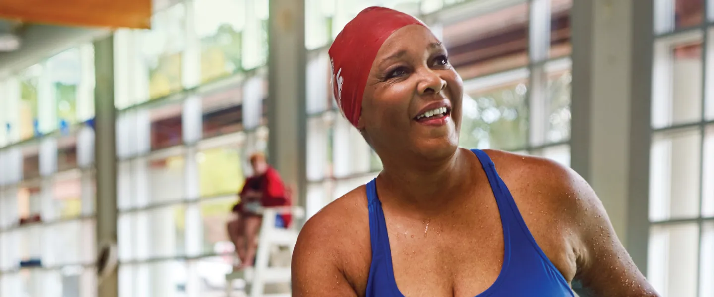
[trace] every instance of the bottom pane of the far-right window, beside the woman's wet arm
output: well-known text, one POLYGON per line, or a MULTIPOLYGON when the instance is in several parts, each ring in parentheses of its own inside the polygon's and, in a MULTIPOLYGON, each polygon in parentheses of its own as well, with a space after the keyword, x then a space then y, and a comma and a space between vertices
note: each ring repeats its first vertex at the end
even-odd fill
POLYGON ((698 238, 697 224, 650 229, 647 276, 663 296, 696 296, 698 238))

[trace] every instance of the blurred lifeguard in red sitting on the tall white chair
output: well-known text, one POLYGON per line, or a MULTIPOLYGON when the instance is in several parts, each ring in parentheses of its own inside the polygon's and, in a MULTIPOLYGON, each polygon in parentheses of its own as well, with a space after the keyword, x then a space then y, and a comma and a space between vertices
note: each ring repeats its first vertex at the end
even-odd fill
MULTIPOLYGON (((241 264, 235 269, 253 266, 258 249, 258 231, 263 222, 263 207, 286 207, 291 205, 290 197, 277 170, 266 162, 262 153, 255 153, 250 158, 253 176, 246 179, 243 189, 238 194, 240 202, 233 206, 233 219, 228 222, 228 236, 236 246, 236 254, 241 264)), ((291 222, 290 214, 276 217, 278 227, 287 227, 291 222)))

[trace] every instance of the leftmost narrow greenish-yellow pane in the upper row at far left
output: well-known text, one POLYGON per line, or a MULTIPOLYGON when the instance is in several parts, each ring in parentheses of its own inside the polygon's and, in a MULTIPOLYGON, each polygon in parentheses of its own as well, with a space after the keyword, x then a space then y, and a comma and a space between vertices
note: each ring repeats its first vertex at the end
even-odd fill
POLYGON ((20 75, 20 139, 39 134, 38 88, 42 66, 27 68, 20 75))

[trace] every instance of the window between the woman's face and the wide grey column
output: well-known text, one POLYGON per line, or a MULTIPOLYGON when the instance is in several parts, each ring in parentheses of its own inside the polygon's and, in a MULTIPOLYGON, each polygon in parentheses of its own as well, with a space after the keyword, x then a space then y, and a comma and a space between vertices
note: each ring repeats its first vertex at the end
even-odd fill
POLYGON ((572 5, 535 0, 466 19, 441 17, 434 27, 464 80, 461 146, 543 155, 570 140, 572 5))

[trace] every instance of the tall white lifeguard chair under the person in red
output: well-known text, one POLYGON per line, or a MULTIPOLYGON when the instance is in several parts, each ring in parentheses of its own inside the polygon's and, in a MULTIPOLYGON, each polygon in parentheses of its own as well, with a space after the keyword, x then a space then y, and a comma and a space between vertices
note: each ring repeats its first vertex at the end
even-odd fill
POLYGON ((293 222, 296 219, 305 217, 302 207, 266 207, 260 209, 263 214, 261 231, 258 235, 258 250, 256 251, 256 262, 253 267, 233 271, 226 274, 226 297, 230 297, 233 292, 233 281, 243 280, 246 283, 245 292, 250 297, 290 297, 291 292, 264 294, 266 284, 290 283, 290 262, 287 266, 269 266, 271 253, 278 251, 282 247, 287 247, 289 253, 293 254, 295 242, 298 239, 299 230, 295 224, 288 228, 276 227, 276 216, 278 214, 292 214, 293 222))

